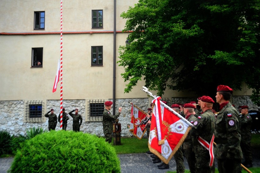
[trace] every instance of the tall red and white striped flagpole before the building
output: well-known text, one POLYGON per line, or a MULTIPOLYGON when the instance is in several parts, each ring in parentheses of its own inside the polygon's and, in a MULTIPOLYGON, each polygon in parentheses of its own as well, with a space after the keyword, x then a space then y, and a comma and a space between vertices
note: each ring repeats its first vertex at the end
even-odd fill
POLYGON ((62 130, 62 0, 60 0, 60 130, 62 130))

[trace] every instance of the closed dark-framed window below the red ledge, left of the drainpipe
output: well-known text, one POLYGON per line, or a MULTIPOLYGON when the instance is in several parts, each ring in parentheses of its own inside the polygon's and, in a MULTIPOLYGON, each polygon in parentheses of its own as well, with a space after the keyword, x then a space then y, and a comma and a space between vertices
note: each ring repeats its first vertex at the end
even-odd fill
POLYGON ((91 46, 91 66, 103 66, 103 46, 91 46))

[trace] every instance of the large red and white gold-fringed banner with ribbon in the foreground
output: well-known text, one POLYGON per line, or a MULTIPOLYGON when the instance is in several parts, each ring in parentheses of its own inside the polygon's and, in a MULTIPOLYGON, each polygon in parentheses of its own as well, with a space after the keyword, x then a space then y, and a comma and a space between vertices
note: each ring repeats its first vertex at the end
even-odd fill
POLYGON ((156 97, 152 101, 154 106, 148 146, 152 153, 168 164, 182 145, 192 124, 160 99, 161 97, 156 97))

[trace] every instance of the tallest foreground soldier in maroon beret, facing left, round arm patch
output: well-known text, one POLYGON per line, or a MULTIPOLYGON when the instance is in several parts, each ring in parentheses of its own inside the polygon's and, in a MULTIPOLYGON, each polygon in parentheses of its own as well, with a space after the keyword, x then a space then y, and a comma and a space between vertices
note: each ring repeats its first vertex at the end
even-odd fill
POLYGON ((219 114, 215 120, 215 146, 219 173, 241 172, 242 151, 240 148, 240 118, 237 110, 229 102, 233 93, 226 85, 217 87, 216 101, 219 114))

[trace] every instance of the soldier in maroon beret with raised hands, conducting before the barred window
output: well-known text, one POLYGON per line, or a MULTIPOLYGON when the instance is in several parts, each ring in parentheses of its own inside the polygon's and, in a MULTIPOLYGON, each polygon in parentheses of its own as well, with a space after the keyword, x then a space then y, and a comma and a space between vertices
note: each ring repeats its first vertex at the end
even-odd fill
POLYGON ((121 114, 122 108, 118 108, 118 113, 116 115, 112 115, 110 113, 111 105, 113 102, 106 101, 105 103, 105 110, 103 112, 103 132, 106 138, 106 141, 111 143, 112 142, 112 132, 113 132, 113 121, 115 121, 119 115, 121 114))

